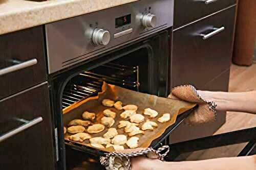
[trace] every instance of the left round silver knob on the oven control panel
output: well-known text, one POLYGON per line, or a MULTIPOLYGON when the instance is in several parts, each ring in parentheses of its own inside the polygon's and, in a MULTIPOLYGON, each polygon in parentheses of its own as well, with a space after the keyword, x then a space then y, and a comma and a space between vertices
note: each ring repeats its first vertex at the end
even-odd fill
POLYGON ((93 31, 92 41, 95 45, 108 45, 110 42, 110 32, 102 29, 95 29, 93 31))

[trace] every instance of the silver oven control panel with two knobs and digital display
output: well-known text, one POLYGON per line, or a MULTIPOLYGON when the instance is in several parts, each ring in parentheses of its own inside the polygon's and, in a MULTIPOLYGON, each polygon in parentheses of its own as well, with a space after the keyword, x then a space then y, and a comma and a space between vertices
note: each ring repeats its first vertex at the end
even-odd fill
POLYGON ((49 74, 173 26, 174 0, 141 0, 46 25, 49 74))

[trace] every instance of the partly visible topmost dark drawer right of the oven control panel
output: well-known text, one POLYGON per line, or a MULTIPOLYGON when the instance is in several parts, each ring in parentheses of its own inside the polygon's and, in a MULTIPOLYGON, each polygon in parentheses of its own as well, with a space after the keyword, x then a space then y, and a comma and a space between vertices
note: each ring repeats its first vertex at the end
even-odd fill
POLYGON ((174 28, 234 4, 236 4, 236 0, 175 0, 174 28))

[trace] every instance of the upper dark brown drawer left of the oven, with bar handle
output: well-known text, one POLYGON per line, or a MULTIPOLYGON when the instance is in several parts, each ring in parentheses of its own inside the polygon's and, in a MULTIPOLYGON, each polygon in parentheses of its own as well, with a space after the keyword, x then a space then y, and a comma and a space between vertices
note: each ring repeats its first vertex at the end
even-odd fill
POLYGON ((47 79, 42 26, 0 36, 0 99, 47 79))

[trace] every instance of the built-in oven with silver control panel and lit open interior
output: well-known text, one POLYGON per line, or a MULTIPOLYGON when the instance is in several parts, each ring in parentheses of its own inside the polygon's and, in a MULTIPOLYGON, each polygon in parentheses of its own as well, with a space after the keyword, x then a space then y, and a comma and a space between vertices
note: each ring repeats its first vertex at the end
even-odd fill
POLYGON ((45 26, 58 169, 101 168, 104 152, 65 141, 63 125, 75 118, 66 111, 97 95, 103 82, 168 95, 173 8, 173 0, 142 0, 45 26))

